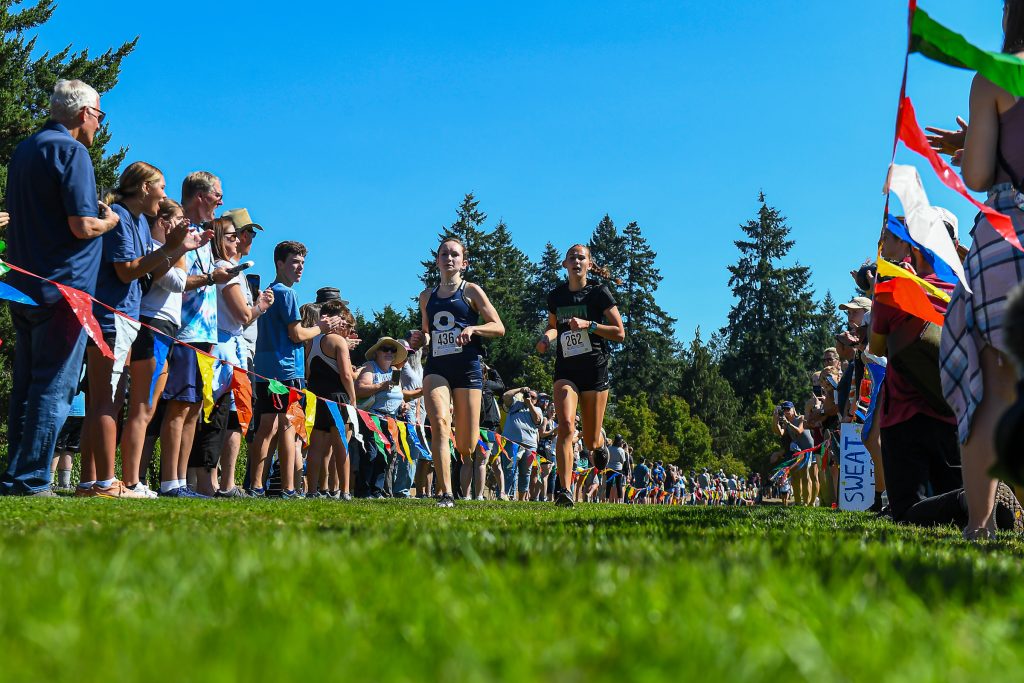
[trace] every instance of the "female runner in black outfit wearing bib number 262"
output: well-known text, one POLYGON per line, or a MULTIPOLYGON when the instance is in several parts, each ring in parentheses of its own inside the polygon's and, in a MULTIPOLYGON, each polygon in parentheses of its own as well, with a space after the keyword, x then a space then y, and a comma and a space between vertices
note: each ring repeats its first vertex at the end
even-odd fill
MULTIPOLYGON (((568 281, 548 294, 548 329, 537 342, 537 350, 547 353, 557 346, 555 357, 555 414, 558 420, 558 489, 555 505, 572 507, 572 426, 577 408, 582 412, 583 442, 591 462, 600 470, 607 467, 608 451, 601 431, 608 404, 608 341, 626 339, 618 306, 608 288, 587 280, 593 270, 602 278, 608 271, 594 263, 590 249, 574 245, 565 254, 562 266, 568 281)), ((582 482, 581 482, 582 483, 582 482)))

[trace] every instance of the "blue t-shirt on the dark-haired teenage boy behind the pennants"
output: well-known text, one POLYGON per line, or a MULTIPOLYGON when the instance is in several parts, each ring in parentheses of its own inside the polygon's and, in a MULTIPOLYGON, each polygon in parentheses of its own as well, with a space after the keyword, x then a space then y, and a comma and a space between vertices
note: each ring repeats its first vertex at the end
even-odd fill
POLYGON ((281 381, 305 379, 305 347, 288 336, 288 326, 302 319, 295 290, 282 283, 274 283, 270 289, 273 305, 257 318, 256 374, 281 381))

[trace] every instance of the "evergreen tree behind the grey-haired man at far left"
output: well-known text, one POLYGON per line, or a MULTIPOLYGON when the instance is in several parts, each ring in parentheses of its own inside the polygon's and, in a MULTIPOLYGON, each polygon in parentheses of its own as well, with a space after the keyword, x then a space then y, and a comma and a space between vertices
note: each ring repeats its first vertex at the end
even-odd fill
MULTIPOLYGON (((56 5, 54 0, 38 0, 15 11, 22 4, 19 0, 0 0, 0 210, 6 207, 7 165, 11 155, 22 140, 46 122, 56 82, 81 79, 103 95, 117 85, 121 62, 138 42, 136 37, 97 57, 90 57, 88 50, 73 52, 70 45, 56 54, 44 52, 33 56, 36 38, 28 34, 46 24, 56 5)), ((121 147, 108 155, 110 139, 110 129, 103 125, 89 148, 97 187, 115 186, 118 168, 127 153, 121 147)), ((6 405, 14 355, 14 330, 6 306, 0 306, 0 339, 5 342, 0 346, 0 404, 6 405)), ((0 424, 6 428, 6 422, 4 410, 0 424)))

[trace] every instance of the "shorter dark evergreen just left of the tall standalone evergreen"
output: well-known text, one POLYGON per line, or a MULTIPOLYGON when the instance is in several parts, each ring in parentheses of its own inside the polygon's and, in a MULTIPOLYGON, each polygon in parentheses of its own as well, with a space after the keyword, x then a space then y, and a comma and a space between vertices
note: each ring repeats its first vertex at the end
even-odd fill
POLYGON ((711 430, 714 452, 734 453, 741 433, 740 402, 732 385, 722 377, 712 344, 701 342, 700 328, 683 354, 679 393, 711 430))

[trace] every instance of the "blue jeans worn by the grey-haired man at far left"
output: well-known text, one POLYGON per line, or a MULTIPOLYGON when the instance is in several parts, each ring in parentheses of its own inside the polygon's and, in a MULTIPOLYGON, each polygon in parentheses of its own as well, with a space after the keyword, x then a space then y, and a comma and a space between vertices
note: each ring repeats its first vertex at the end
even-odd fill
POLYGON ((86 337, 62 300, 51 306, 11 303, 10 317, 17 340, 0 494, 16 496, 50 485, 53 446, 78 393, 86 337))

